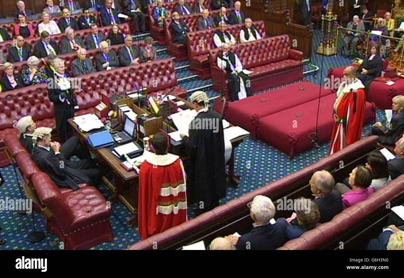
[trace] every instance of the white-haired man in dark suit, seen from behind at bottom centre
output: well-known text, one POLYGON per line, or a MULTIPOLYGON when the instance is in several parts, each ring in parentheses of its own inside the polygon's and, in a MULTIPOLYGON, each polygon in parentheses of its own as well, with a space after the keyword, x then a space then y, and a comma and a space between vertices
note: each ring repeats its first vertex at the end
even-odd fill
POLYGON ((285 219, 278 219, 275 224, 269 223, 274 218, 275 206, 271 199, 257 195, 248 203, 250 216, 254 220, 254 228, 240 238, 231 236, 231 242, 238 250, 275 250, 286 242, 285 219))

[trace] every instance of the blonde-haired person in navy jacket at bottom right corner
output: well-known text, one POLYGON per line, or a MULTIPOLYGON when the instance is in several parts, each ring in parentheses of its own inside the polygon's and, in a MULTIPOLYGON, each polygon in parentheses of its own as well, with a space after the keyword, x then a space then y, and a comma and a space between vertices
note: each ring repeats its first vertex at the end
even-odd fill
POLYGON ((404 225, 389 225, 376 239, 370 240, 366 250, 404 250, 404 225))

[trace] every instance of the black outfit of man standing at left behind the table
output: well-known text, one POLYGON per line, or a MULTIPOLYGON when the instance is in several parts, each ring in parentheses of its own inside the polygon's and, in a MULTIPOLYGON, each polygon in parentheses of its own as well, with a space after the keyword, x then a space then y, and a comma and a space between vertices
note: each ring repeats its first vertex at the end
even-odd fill
MULTIPOLYGON (((68 77, 68 76, 67 76, 68 77)), ((54 79, 59 78, 55 75, 54 79)), ((74 89, 67 90, 60 89, 59 85, 52 84, 48 89, 48 95, 55 109, 56 130, 59 132, 61 142, 65 142, 68 138, 73 136, 73 128, 67 123, 67 119, 74 117, 74 106, 77 105, 74 89), (63 97, 69 102, 61 102, 59 96, 63 97)))

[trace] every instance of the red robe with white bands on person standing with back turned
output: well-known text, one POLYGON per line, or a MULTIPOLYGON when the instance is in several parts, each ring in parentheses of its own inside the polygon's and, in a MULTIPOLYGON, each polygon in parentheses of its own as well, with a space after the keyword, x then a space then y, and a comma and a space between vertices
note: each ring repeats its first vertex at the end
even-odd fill
POLYGON ((142 240, 187 221, 185 171, 177 155, 147 156, 139 174, 138 224, 142 240))

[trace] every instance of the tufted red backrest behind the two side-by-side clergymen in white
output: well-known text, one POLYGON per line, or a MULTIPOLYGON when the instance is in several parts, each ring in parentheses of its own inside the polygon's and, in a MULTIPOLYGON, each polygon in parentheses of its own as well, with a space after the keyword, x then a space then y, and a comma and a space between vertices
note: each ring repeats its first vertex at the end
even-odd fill
MULTIPOLYGON (((259 32, 262 38, 265 38, 264 21, 254 21, 252 26, 259 32)), ((238 40, 240 30, 244 28, 244 24, 230 25, 227 30, 238 40)), ((213 35, 219 31, 219 28, 189 32, 187 36, 188 57, 208 54, 210 49, 215 48, 213 35)))

